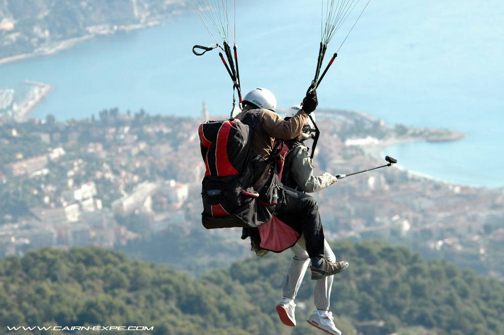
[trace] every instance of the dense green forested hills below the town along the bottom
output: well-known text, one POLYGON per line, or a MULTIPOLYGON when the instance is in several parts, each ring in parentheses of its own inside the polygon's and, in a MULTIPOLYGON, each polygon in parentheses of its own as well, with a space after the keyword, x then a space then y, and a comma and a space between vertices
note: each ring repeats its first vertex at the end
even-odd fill
MULTIPOLYGON (((375 330, 382 334, 504 333, 501 281, 443 261, 426 263, 385 243, 342 241, 333 249, 350 262, 336 275, 331 302, 345 334, 371 320, 384 321, 375 330)), ((298 296, 298 326, 277 319, 289 257, 251 258, 195 280, 103 249, 30 251, 0 261, 0 323, 2 331, 8 325, 100 324, 154 326, 143 333, 159 335, 317 334, 302 322, 313 309, 309 279, 298 296)))

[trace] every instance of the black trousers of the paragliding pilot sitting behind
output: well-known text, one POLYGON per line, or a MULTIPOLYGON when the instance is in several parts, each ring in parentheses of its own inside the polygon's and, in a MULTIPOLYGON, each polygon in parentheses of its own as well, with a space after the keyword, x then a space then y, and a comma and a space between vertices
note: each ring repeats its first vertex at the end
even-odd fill
POLYGON ((310 258, 324 257, 324 229, 317 200, 285 185, 283 188, 283 202, 277 205, 275 215, 304 235, 310 258))

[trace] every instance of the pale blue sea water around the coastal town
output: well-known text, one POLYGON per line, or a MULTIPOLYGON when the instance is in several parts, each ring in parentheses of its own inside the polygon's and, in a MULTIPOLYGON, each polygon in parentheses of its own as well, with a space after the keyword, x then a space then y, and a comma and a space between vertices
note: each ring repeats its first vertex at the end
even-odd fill
MULTIPOLYGON (((299 103, 316 65, 320 2, 238 3, 243 91, 267 87, 279 106, 299 103)), ((331 41, 327 58, 348 29, 331 41)), ((25 79, 51 84, 32 115, 59 120, 110 107, 198 116, 203 101, 211 114, 227 114, 232 86, 217 53, 191 52, 194 44, 211 43, 196 14, 182 15, 0 65, 0 88, 19 88, 25 79)), ((462 141, 404 144, 386 154, 435 178, 504 186, 502 59, 501 0, 371 0, 318 90, 320 106, 362 111, 389 124, 462 131, 462 141)))

